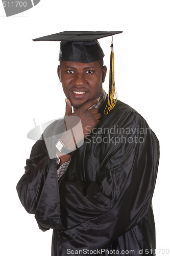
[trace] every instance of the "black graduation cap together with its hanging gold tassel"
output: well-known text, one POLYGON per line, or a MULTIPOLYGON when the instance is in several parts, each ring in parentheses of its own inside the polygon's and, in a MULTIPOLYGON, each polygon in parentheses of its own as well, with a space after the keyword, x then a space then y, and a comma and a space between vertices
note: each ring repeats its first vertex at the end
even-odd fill
MULTIPOLYGON (((90 63, 104 57, 98 39, 113 36, 123 31, 64 31, 33 39, 33 41, 61 41, 59 60, 90 63)), ((111 41, 108 103, 104 110, 108 114, 117 101, 114 83, 113 37, 111 41)))

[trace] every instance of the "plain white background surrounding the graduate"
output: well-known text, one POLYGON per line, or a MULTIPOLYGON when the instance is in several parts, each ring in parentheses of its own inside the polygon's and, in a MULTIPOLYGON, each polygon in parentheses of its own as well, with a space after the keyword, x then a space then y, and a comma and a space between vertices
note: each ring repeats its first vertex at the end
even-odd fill
MULTIPOLYGON (((118 99, 136 109, 160 141, 153 209, 157 248, 169 248, 170 254, 169 7, 164 0, 41 0, 6 17, 0 3, 1 255, 51 255, 52 230, 38 229, 18 199, 16 184, 35 142, 27 138, 33 118, 38 125, 62 117, 65 109, 57 77, 59 42, 32 39, 64 30, 124 31, 113 38, 118 99)), ((111 38, 100 44, 109 66, 111 38)))

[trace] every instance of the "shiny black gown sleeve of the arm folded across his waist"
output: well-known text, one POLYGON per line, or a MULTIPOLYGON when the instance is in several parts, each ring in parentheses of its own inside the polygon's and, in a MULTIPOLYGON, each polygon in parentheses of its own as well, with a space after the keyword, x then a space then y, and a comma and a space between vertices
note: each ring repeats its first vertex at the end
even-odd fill
MULTIPOLYGON (((113 123, 116 120, 110 127, 113 123)), ((107 248, 148 214, 157 176, 158 140, 137 113, 125 113, 117 124, 124 130, 107 135, 112 140, 103 143, 96 181, 61 180, 65 230, 58 236, 59 255, 64 256, 67 248, 107 248)))

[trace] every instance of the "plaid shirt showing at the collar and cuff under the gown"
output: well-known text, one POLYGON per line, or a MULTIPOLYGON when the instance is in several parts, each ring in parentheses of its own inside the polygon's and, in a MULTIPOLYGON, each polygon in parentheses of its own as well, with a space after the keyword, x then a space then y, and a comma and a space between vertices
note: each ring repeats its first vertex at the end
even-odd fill
MULTIPOLYGON (((93 108, 99 109, 100 106, 105 102, 106 97, 107 97, 107 93, 106 93, 105 90, 102 88, 102 93, 101 93, 100 97, 98 98, 98 99, 99 99, 99 102, 98 102, 97 104, 91 106, 91 107, 89 108, 89 110, 90 110, 90 109, 93 109, 93 108)), ((69 160, 68 162, 63 163, 63 164, 60 166, 60 168, 58 168, 58 170, 57 170, 58 179, 60 179, 60 177, 65 173, 65 171, 66 171, 66 169, 67 169, 67 167, 68 167, 68 165, 69 165, 69 162, 70 162, 70 160, 69 160)), ((58 165, 59 163, 60 163, 60 158, 57 156, 57 165, 58 165)))

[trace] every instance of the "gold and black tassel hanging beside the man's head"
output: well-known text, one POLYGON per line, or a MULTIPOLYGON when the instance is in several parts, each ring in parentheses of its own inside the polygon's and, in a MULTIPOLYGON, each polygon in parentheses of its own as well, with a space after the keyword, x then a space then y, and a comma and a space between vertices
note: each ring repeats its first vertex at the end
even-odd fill
POLYGON ((115 106, 117 101, 117 93, 115 90, 114 83, 114 53, 113 53, 113 44, 111 44, 111 53, 110 53, 110 71, 109 71, 109 92, 108 92, 108 103, 104 110, 105 114, 108 114, 115 106))

